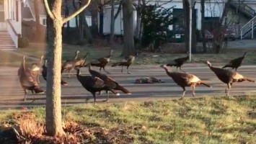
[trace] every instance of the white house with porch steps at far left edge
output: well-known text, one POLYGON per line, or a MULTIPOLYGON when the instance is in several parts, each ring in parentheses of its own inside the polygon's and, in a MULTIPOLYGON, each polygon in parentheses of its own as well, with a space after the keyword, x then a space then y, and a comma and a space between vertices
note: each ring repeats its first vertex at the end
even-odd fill
POLYGON ((0 50, 14 50, 18 47, 21 29, 20 0, 4 0, 0 4, 0 50))

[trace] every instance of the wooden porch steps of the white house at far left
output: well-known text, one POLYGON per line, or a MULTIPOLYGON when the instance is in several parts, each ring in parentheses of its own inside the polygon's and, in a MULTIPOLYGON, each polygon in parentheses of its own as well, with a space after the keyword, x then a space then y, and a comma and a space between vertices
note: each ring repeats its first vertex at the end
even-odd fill
POLYGON ((8 32, 0 32, 0 50, 17 50, 12 37, 8 32))

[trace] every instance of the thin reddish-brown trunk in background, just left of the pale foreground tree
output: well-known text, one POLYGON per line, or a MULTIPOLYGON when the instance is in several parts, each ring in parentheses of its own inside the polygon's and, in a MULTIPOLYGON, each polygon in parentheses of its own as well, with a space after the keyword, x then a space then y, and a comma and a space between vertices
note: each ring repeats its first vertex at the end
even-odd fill
POLYGON ((38 0, 34 0, 34 9, 35 9, 35 29, 37 35, 35 35, 35 40, 38 42, 41 40, 41 30, 40 30, 40 17, 39 17, 39 10, 38 10, 38 0))

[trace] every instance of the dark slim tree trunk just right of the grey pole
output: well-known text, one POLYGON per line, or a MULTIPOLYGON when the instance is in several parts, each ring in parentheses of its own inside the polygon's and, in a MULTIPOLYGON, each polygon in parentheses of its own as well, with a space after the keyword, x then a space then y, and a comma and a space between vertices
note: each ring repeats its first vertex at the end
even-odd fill
POLYGON ((203 42, 203 53, 207 52, 206 49, 206 24, 205 24, 205 1, 201 0, 201 34, 202 34, 202 42, 203 42))

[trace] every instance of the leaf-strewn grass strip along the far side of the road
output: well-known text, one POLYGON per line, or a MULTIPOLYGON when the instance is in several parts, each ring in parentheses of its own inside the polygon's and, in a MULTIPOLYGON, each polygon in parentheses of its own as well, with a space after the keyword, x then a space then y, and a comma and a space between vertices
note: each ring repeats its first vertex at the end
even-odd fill
MULTIPOLYGON (((117 46, 117 48, 112 48, 114 52, 112 53, 112 58, 110 63, 121 60, 120 53, 122 47, 117 46)), ((41 55, 45 55, 45 45, 31 43, 29 48, 19 48, 18 53, 25 55, 30 55, 32 57, 40 58, 41 55)), ((78 45, 63 45, 63 60, 68 60, 74 57, 76 50, 79 50, 79 58, 89 51, 90 55, 87 60, 92 60, 95 58, 102 58, 109 55, 110 48, 92 48, 87 46, 78 46, 78 45)), ((252 64, 256 62, 256 50, 255 49, 229 49, 229 52, 226 54, 193 54, 192 63, 203 63, 206 60, 210 60, 211 63, 227 63, 229 60, 238 58, 247 51, 247 57, 244 59, 244 64, 252 64)), ((15 55, 7 55, 8 52, 0 53, 0 65, 3 63, 11 63, 12 65, 17 65, 20 63, 19 57, 15 55)), ((159 65, 163 63, 168 63, 170 60, 175 58, 185 57, 185 54, 161 54, 161 53, 146 53, 143 52, 142 55, 139 55, 134 62, 135 65, 159 65), (154 57, 154 55, 158 55, 154 57)), ((189 63, 189 62, 187 62, 189 63)))

